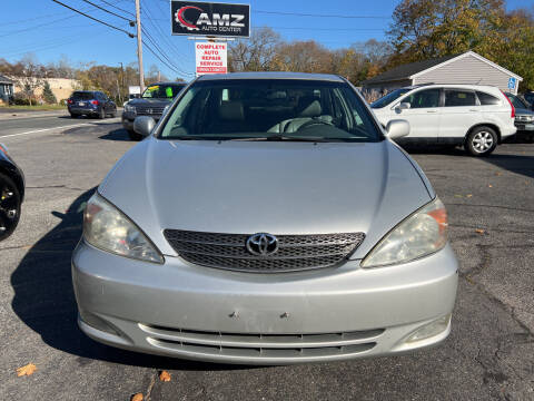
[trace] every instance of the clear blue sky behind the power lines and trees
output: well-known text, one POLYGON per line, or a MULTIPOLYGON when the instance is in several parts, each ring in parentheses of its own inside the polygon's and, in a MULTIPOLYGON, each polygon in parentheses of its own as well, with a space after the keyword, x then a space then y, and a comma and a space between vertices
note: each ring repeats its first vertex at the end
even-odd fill
MULTIPOLYGON (((110 16, 83 0, 61 1, 118 28, 135 32, 135 28, 129 27, 128 21, 110 16)), ((126 11, 135 12, 135 0, 90 1, 125 17, 129 17, 126 11), (122 10, 110 7, 106 2, 122 10)), ((170 79, 179 77, 189 80, 195 70, 194 41, 188 40, 187 37, 170 35, 169 0, 140 0, 140 2, 141 25, 176 66, 175 70, 171 70, 145 49, 145 71, 155 65, 170 79)), ((385 39, 385 31, 392 21, 390 16, 400 0, 231 0, 228 2, 250 3, 253 28, 268 26, 286 40, 313 39, 335 49, 372 38, 385 39), (269 11, 366 18, 296 17, 271 14, 269 11)), ((508 0, 506 8, 513 10, 530 8, 532 4, 533 0, 508 0)), ((63 57, 75 67, 90 61, 108 66, 137 62, 136 39, 79 16, 51 0, 4 0, 2 14, 0 58, 8 61, 12 62, 26 53, 32 53, 42 63, 57 62, 63 57)), ((144 39, 148 40, 148 38, 144 39)))

